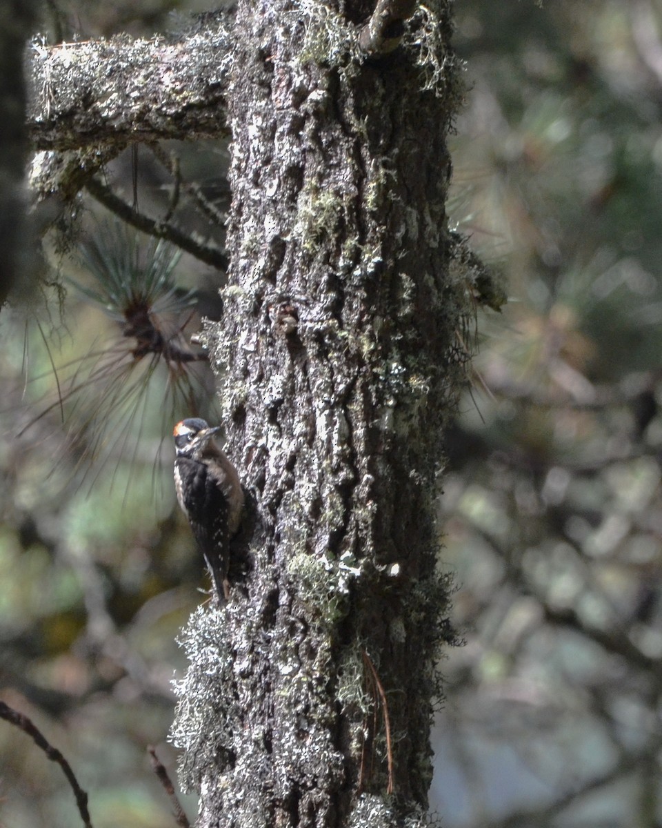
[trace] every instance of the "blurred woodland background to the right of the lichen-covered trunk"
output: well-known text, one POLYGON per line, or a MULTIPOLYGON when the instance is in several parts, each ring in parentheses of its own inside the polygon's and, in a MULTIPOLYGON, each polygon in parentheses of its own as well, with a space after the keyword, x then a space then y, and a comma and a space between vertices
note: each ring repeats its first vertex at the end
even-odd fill
POLYGON ((662 3, 458 0, 453 219, 506 277, 439 513, 446 826, 660 826, 662 3))

